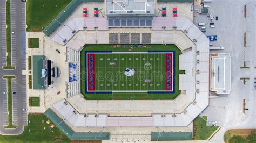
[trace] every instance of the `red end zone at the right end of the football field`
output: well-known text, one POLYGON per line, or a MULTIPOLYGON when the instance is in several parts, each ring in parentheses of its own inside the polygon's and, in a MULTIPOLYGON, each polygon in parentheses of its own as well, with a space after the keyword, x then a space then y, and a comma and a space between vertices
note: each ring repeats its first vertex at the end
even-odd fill
POLYGON ((173 53, 165 54, 165 90, 173 90, 173 53))

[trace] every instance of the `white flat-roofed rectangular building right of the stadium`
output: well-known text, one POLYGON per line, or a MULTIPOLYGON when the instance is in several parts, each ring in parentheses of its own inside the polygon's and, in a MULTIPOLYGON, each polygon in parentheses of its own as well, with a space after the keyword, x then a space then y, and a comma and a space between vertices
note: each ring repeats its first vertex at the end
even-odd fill
POLYGON ((211 54, 210 90, 216 94, 230 94, 231 56, 227 53, 211 54))

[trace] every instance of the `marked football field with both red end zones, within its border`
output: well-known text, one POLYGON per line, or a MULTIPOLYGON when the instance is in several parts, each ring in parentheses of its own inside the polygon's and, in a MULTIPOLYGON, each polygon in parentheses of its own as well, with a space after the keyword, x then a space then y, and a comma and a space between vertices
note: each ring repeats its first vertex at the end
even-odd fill
POLYGON ((97 91, 97 93, 100 93, 99 91, 166 91, 166 93, 167 91, 173 91, 173 51, 103 51, 96 53, 87 52, 86 55, 86 88, 88 91, 97 91), (166 58, 169 58, 169 60, 167 60, 166 58), (127 72, 126 70, 132 70, 130 71, 131 75, 129 75, 129 72, 127 72))

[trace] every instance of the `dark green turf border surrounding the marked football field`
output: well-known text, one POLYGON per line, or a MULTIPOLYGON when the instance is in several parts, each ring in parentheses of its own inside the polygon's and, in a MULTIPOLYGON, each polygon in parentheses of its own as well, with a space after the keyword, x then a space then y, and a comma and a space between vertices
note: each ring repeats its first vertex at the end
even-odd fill
POLYGON ((181 51, 175 45, 146 45, 147 47, 138 48, 133 46, 132 52, 146 52, 148 50, 162 50, 162 51, 175 51, 175 92, 174 94, 147 94, 146 92, 122 92, 122 93, 113 93, 113 94, 85 94, 85 51, 97 51, 97 50, 111 50, 114 52, 128 52, 129 47, 112 47, 112 45, 86 45, 81 51, 81 92, 84 95, 85 99, 175 99, 179 94, 179 76, 178 74, 184 74, 183 70, 179 70, 179 55, 181 51))

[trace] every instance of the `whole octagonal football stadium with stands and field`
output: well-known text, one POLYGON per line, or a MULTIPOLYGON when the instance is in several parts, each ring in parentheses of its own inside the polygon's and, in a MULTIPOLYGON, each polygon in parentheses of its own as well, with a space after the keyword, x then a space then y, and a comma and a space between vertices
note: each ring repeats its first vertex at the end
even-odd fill
POLYGON ((44 115, 71 140, 192 140, 209 40, 180 2, 72 0, 32 51, 44 115))

